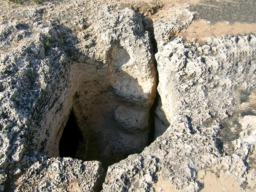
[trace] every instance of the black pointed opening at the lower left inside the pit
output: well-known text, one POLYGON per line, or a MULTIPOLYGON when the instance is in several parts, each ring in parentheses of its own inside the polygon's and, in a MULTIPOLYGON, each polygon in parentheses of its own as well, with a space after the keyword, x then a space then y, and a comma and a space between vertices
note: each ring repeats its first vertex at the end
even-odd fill
POLYGON ((76 151, 79 142, 83 140, 81 131, 76 123, 76 117, 73 110, 70 112, 69 119, 63 130, 60 144, 59 152, 60 157, 72 157, 76 158, 76 151))

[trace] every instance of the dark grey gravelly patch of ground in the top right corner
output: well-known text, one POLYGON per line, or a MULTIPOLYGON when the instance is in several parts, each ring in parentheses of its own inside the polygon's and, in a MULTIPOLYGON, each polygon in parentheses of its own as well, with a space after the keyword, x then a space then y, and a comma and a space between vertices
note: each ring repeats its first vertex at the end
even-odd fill
POLYGON ((201 0, 192 4, 189 10, 212 24, 220 21, 256 23, 256 3, 253 0, 201 0))

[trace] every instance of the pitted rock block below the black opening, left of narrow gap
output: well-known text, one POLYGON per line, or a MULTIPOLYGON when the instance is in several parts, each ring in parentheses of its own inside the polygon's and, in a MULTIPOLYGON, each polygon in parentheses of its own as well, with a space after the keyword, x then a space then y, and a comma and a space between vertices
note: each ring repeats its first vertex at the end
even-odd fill
POLYGON ((72 158, 49 158, 42 154, 23 157, 22 168, 15 172, 9 191, 99 191, 104 179, 104 171, 98 161, 76 160, 72 158))

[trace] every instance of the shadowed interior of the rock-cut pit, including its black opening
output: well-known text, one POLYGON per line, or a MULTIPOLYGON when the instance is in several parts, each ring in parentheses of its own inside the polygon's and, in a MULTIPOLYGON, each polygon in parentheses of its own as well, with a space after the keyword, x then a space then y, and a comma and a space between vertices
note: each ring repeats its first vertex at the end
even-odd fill
POLYGON ((142 152, 153 142, 154 131, 151 130, 154 130, 152 124, 157 105, 154 102, 151 116, 145 119, 149 123, 141 124, 140 118, 150 110, 149 104, 145 104, 148 93, 137 78, 123 70, 125 65, 131 65, 130 53, 114 43, 108 54, 108 68, 92 60, 74 64, 73 70, 77 74, 81 72, 76 79, 81 86, 73 96, 73 109, 59 143, 60 157, 97 160, 105 170, 130 154, 142 152), (135 119, 131 121, 134 123, 131 130, 122 123, 122 116, 126 114, 135 119))

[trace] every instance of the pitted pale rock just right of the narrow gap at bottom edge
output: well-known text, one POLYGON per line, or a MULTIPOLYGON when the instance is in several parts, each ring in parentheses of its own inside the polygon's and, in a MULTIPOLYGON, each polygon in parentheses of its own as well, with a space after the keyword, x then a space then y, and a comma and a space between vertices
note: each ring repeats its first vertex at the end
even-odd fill
POLYGON ((151 156, 130 155, 127 159, 109 167, 102 192, 128 191, 130 186, 134 186, 132 191, 148 191, 150 187, 147 182, 154 181, 157 170, 155 163, 156 159, 151 156))

